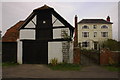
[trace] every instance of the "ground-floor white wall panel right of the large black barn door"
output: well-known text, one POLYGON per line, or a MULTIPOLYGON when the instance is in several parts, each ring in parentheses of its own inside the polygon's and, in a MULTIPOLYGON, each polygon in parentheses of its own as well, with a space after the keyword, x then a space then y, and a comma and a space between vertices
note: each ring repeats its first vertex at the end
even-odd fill
POLYGON ((48 42, 48 63, 54 58, 58 63, 63 62, 62 42, 48 42))

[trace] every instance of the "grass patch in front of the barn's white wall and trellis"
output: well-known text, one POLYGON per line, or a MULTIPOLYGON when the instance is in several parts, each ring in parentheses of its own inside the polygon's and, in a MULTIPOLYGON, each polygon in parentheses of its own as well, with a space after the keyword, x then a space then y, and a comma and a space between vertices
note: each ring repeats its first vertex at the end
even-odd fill
POLYGON ((62 70, 62 71, 79 71, 82 68, 82 66, 79 64, 68 64, 68 63, 61 63, 55 66, 49 64, 48 67, 52 70, 62 70))

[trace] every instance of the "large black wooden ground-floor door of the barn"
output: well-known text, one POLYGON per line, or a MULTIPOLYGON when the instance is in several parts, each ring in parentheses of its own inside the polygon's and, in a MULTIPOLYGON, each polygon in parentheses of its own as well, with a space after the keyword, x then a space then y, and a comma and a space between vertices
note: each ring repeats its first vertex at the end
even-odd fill
POLYGON ((48 43, 46 41, 23 41, 23 63, 48 64, 48 43))

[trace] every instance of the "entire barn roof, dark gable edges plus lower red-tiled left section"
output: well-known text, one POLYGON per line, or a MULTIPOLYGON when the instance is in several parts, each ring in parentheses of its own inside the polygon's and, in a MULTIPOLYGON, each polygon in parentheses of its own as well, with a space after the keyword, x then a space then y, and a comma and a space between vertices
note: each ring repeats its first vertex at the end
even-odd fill
POLYGON ((24 28, 28 23, 29 21, 31 21, 31 19, 36 15, 36 11, 43 11, 43 10, 52 10, 54 16, 56 18, 59 18, 59 20, 63 23, 63 24, 66 24, 67 27, 69 27, 71 30, 72 30, 72 33, 74 31, 74 27, 71 26, 64 18, 62 18, 56 11, 54 11, 53 8, 47 6, 47 5, 44 5, 40 8, 37 8, 37 9, 34 9, 33 12, 27 17, 27 19, 25 21, 20 21, 18 22, 17 24, 15 24, 13 27, 9 28, 5 35, 2 37, 2 42, 16 42, 17 39, 19 38, 19 30, 24 28))

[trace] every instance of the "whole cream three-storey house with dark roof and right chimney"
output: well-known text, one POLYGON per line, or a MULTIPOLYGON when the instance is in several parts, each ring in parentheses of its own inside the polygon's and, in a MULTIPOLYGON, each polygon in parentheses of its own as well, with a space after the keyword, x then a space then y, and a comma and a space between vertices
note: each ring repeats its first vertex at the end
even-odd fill
POLYGON ((99 50, 107 39, 112 39, 112 22, 104 19, 83 19, 78 22, 78 44, 81 49, 99 50))

